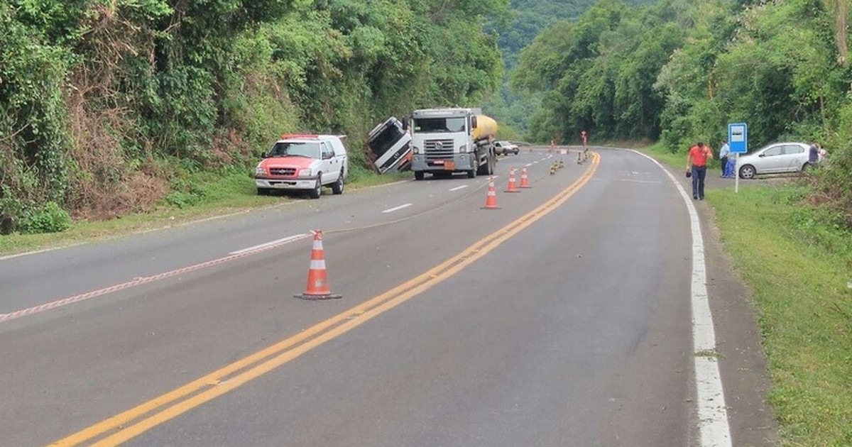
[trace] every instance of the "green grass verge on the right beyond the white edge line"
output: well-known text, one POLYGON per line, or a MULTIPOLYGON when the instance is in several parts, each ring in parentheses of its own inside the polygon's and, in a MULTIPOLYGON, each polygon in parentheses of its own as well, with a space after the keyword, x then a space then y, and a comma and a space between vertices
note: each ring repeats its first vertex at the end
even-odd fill
POLYGON ((790 185, 712 190, 722 244, 752 291, 784 445, 852 445, 852 232, 790 185))

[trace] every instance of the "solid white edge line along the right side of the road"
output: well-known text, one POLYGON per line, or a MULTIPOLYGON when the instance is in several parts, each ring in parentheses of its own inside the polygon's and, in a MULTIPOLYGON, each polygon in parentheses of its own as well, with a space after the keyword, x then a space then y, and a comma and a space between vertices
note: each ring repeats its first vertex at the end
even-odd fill
MULTIPOLYGON (((636 151, 632 151, 636 152, 636 151)), ((687 204, 689 224, 692 230, 692 313, 693 313, 693 358, 695 365, 696 404, 698 405, 698 426, 701 447, 730 447, 731 429, 728 425, 728 410, 725 408, 725 393, 722 389, 722 375, 716 355, 716 331, 713 330, 713 315, 710 301, 707 299, 707 272, 704 262, 704 238, 701 237, 701 224, 698 212, 689 200, 687 192, 668 169, 657 160, 642 152, 636 152, 648 158, 663 169, 671 182, 680 192, 687 204)))

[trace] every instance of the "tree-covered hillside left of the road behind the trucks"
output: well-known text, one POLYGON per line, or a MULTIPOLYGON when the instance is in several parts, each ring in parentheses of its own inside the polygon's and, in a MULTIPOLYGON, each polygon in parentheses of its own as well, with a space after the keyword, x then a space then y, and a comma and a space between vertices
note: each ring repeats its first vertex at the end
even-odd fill
POLYGON ((507 18, 508 0, 0 3, 0 233, 145 210, 284 132, 347 134, 363 169, 379 120, 496 88, 484 30, 507 18))

